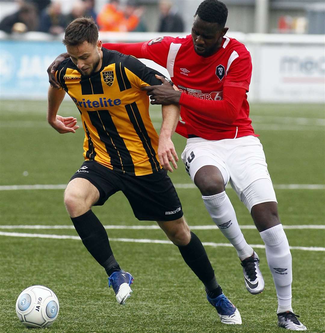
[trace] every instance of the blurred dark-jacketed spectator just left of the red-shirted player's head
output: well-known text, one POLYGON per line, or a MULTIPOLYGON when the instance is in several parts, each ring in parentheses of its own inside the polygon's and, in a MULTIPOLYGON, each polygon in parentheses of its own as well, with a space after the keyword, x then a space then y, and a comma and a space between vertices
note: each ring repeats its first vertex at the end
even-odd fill
POLYGON ((161 13, 158 32, 183 32, 184 22, 177 14, 170 0, 160 0, 159 10, 161 13))

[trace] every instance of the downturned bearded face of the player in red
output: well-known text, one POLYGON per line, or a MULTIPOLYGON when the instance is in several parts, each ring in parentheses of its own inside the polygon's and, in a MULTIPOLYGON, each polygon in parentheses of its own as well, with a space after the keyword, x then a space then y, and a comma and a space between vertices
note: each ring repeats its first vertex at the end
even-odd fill
POLYGON ((192 39, 195 52, 202 57, 209 57, 221 46, 222 37, 228 28, 222 28, 218 23, 203 21, 194 16, 192 39))

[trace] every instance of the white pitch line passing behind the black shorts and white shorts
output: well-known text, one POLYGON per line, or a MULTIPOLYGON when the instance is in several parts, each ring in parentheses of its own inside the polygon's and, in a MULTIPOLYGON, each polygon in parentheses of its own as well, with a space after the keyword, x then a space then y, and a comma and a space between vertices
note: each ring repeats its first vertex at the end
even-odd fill
MULTIPOLYGON (((175 188, 196 188, 194 183, 174 184, 175 188)), ((30 189, 65 189, 67 184, 1 185, 0 191, 30 189)), ((273 184, 274 189, 325 189, 324 184, 273 184)), ((230 185, 227 185, 230 188, 230 185)))

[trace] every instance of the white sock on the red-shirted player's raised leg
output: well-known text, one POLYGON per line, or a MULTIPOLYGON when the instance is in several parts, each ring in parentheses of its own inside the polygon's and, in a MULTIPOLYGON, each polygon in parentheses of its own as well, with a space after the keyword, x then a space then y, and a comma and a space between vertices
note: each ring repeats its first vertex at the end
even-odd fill
POLYGON ((234 207, 226 192, 210 196, 202 195, 202 199, 213 222, 235 247, 240 260, 250 257, 254 250, 247 244, 239 228, 234 207))

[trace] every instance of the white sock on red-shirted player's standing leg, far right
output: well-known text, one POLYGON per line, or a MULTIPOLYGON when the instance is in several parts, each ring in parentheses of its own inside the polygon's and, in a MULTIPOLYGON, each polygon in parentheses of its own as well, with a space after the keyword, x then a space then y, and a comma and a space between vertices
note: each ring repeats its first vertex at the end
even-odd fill
POLYGON ((260 232, 260 235, 265 243, 266 259, 273 275, 278 297, 277 313, 293 312, 291 307, 292 260, 282 224, 264 230, 260 232))

